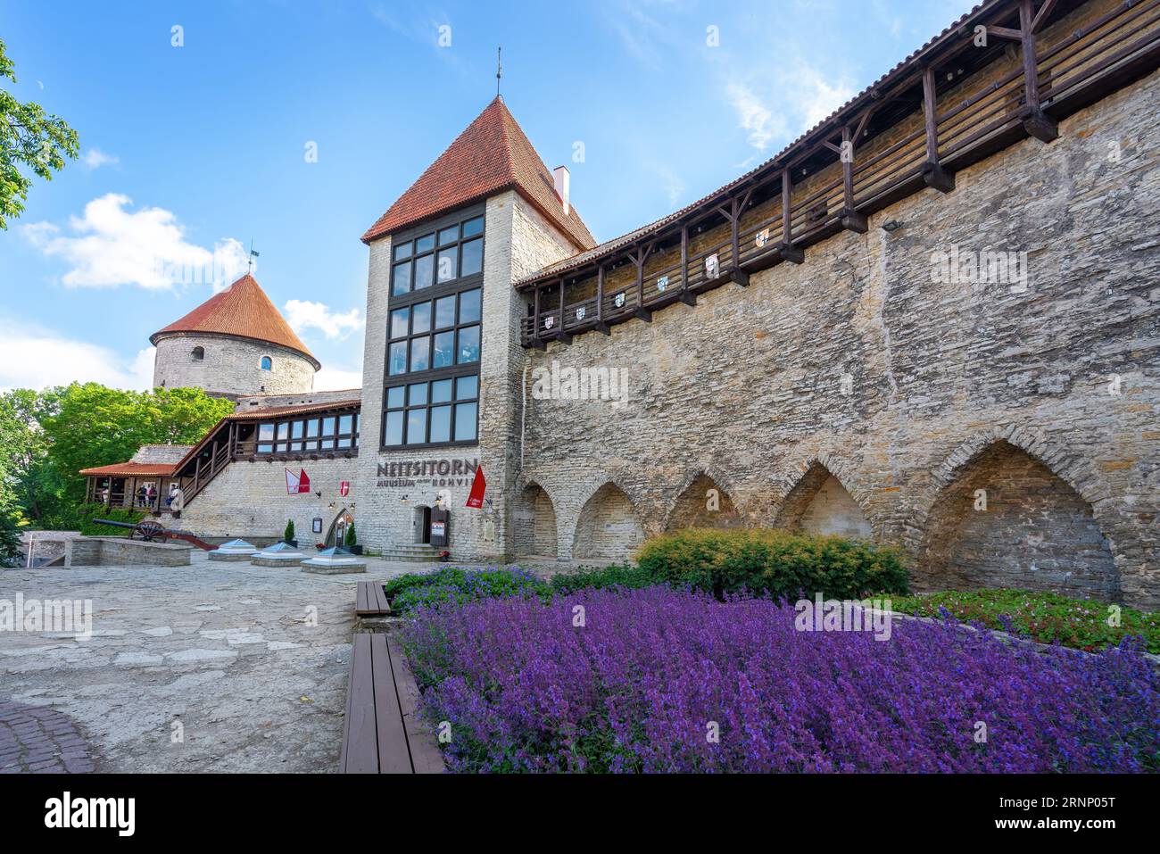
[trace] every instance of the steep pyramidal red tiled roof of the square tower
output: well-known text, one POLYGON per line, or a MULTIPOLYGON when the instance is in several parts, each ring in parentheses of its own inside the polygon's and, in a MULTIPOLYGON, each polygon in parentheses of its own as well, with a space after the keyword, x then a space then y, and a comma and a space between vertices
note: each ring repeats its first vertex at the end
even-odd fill
POLYGON ((370 243, 506 189, 517 190, 580 249, 596 244, 575 208, 564 214, 552 174, 499 96, 387 208, 362 240, 370 243))

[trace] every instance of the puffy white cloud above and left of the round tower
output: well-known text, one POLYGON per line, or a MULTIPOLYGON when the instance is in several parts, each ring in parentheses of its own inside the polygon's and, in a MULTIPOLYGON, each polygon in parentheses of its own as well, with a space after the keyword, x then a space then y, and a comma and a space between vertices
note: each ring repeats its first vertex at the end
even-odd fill
POLYGON ((186 240, 175 214, 164 208, 126 210, 131 204, 128 196, 109 193, 86 204, 82 217, 70 218, 72 234, 46 222, 21 231, 45 255, 71 265, 61 277, 70 288, 211 284, 218 290, 246 270, 247 253, 239 240, 226 238, 206 249, 186 240))

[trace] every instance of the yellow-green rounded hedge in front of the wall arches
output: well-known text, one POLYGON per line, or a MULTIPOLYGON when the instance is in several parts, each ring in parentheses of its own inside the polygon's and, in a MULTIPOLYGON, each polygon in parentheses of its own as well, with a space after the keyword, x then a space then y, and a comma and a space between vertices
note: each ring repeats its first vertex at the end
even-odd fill
POLYGON ((646 541, 640 571, 657 581, 711 591, 718 599, 748 591, 778 599, 861 599, 872 591, 908 593, 900 552, 839 536, 780 529, 689 528, 646 541))

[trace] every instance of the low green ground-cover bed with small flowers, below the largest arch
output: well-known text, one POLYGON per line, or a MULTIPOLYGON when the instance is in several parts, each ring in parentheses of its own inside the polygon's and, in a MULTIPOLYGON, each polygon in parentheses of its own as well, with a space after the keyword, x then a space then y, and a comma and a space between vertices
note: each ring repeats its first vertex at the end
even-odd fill
POLYGON ((1148 652, 1160 653, 1160 614, 1121 608, 1119 625, 1109 625, 1110 606, 1094 599, 1071 599, 1058 593, 988 588, 948 591, 929 596, 892 596, 900 614, 938 617, 943 609, 963 622, 1024 635, 1032 640, 1097 652, 1125 635, 1143 637, 1148 652))

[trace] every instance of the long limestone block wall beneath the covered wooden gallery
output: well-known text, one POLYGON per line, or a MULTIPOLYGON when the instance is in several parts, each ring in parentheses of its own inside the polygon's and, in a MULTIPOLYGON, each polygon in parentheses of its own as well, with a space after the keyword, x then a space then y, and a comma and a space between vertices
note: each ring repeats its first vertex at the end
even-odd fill
POLYGON ((646 533, 698 473, 746 523, 771 524, 821 466, 916 577, 950 538, 966 544, 967 565, 919 578, 928 586, 1071 584, 1160 605, 1158 100, 1152 74, 1061 122, 1056 142, 1017 143, 958 173, 949 195, 925 190, 869 233, 811 247, 804 265, 528 350, 531 369, 554 360, 629 381, 625 401, 529 398, 520 482, 551 498, 560 557, 610 530, 585 513, 606 484, 646 533), (891 219, 902 227, 887 233, 891 219), (1027 281, 947 281, 933 253, 951 251, 1027 253, 1027 281), (959 502, 957 522, 940 521, 1000 442, 1017 453, 992 470, 998 500, 974 511, 964 495, 984 515, 964 524, 959 502), (1035 505, 1049 482, 1024 458, 1066 490, 1050 482, 1052 500, 1035 505), (1086 569, 1059 558, 1081 548, 1086 569), (1032 571, 1049 551, 1057 564, 1032 571))

